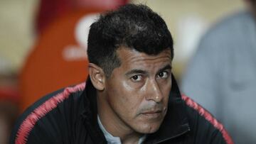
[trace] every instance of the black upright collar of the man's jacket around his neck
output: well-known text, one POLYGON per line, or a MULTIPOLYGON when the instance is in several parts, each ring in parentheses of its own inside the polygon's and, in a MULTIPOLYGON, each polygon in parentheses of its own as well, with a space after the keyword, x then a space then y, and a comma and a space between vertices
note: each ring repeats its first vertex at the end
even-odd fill
MULTIPOLYGON (((174 79, 174 75, 172 75, 171 80, 172 87, 169 94, 169 106, 166 117, 164 118, 159 130, 156 131, 156 133, 151 133, 147 136, 145 143, 161 143, 171 138, 176 138, 189 131, 185 105, 181 99, 181 93, 179 92, 178 84, 174 79)), ((85 109, 82 112, 84 118, 87 119, 85 124, 87 123, 87 128, 90 128, 90 131, 92 131, 91 136, 95 137, 93 139, 95 139, 97 143, 104 143, 105 137, 97 123, 96 89, 92 86, 90 77, 87 79, 82 97, 85 98, 83 100, 85 109), (102 138, 102 140, 100 140, 100 138, 102 138)))

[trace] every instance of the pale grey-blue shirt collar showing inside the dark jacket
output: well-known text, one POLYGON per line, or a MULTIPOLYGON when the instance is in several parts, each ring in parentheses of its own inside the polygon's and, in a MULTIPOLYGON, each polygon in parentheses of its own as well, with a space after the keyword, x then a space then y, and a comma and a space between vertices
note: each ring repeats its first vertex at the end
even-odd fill
MULTIPOLYGON (((122 144, 121 139, 119 137, 114 137, 112 134, 110 134, 109 132, 106 131, 106 129, 104 128, 104 126, 102 125, 101 121, 100 121, 100 116, 97 116, 97 121, 100 125, 100 129, 102 130, 102 132, 105 135, 105 138, 107 140, 107 144, 122 144)), ((146 135, 143 135, 142 138, 139 138, 139 143, 138 144, 142 144, 142 142, 145 140, 146 135)))

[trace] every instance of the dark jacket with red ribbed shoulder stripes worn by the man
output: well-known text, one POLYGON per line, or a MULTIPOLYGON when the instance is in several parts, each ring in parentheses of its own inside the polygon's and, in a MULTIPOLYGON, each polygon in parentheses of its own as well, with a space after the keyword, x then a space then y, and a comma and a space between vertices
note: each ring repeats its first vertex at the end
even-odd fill
MULTIPOLYGON (((188 96, 174 78, 169 107, 158 131, 145 144, 233 143, 223 125, 188 96)), ((10 143, 107 143, 97 123, 96 89, 90 79, 48 94, 18 119, 10 143)))

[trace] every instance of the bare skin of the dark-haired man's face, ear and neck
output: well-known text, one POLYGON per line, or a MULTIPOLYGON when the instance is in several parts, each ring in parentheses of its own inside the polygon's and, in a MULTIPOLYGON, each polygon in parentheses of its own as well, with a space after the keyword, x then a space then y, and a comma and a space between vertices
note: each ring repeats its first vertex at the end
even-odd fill
POLYGON ((137 143, 145 133, 159 129, 166 115, 171 90, 171 50, 159 55, 119 48, 122 64, 105 77, 100 67, 89 65, 97 89, 100 121, 122 143, 137 143))

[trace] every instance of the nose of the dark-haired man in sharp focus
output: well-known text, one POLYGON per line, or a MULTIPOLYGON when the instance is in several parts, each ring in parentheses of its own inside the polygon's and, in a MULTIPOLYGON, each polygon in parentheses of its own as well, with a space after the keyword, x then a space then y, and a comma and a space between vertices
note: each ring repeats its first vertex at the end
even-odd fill
POLYGON ((152 100, 156 103, 159 103, 164 98, 159 84, 156 82, 156 79, 152 79, 149 81, 149 83, 147 84, 146 92, 146 100, 148 101, 152 100))

